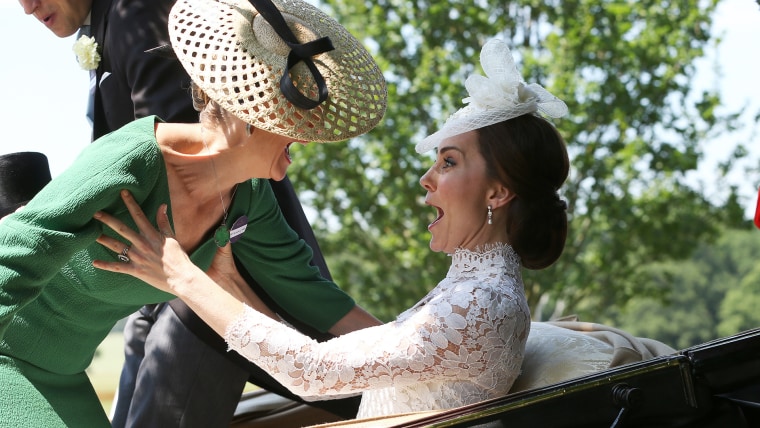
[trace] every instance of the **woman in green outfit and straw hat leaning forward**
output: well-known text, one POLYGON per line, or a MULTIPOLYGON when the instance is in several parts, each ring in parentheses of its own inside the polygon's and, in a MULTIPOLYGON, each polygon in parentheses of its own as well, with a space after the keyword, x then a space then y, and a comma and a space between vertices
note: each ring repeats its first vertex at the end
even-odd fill
POLYGON ((117 255, 97 244, 101 234, 118 234, 93 219, 106 211, 133 226, 123 190, 146 213, 168 203, 178 241, 203 269, 217 246, 233 242, 251 276, 299 320, 330 332, 378 323, 310 265, 310 248, 287 226, 266 180, 285 176, 293 142, 345 140, 377 124, 385 84, 376 64, 302 2, 278 8, 305 57, 246 3, 193 5, 172 10, 170 34, 193 78, 200 122, 151 116, 102 137, 0 223, 2 427, 110 425, 85 369, 118 320, 173 297, 92 266, 130 261, 129 242, 117 255), (207 24, 186 31, 186 14, 207 24), (322 44, 307 43, 314 40, 322 44))

